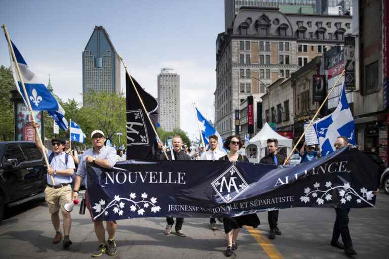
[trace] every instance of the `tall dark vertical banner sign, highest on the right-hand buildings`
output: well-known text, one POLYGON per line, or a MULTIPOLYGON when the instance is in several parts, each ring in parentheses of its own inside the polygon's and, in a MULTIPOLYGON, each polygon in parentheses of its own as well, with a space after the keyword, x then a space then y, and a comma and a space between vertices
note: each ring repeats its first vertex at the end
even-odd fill
POLYGON ((355 90, 355 37, 344 37, 344 63, 346 90, 355 90))

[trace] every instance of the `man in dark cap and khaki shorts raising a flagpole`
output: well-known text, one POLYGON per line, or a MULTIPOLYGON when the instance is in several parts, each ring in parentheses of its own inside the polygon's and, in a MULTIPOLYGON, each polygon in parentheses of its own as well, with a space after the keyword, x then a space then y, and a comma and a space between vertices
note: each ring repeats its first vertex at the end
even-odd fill
POLYGON ((51 214, 51 223, 56 231, 53 243, 57 244, 62 240, 62 233, 60 231, 60 219, 59 210, 61 210, 63 218, 63 247, 69 247, 72 242, 69 239, 71 218, 70 212, 67 212, 64 205, 71 202, 71 187, 70 184, 73 181, 71 176, 74 172, 74 160, 72 156, 69 156, 64 152, 65 140, 60 138, 54 138, 51 140, 53 145, 53 151, 47 150, 38 141, 38 127, 36 122, 32 122, 32 126, 35 129, 35 145, 41 152, 46 152, 48 156, 50 168, 47 168, 47 187, 45 189, 45 198, 48 203, 49 212, 51 214), (51 182, 52 176, 54 183, 51 182))

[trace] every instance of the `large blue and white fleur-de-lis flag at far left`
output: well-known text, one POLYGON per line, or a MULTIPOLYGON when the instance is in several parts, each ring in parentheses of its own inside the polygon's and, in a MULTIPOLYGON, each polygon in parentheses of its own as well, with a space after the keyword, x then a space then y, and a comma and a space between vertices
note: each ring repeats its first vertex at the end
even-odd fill
POLYGON ((27 106, 26 97, 24 95, 22 83, 19 79, 18 72, 16 70, 15 62, 18 63, 20 72, 23 76, 24 86, 27 92, 27 98, 30 101, 32 110, 47 111, 57 123, 57 125, 62 128, 62 130, 67 130, 68 123, 64 117, 65 111, 46 88, 45 84, 43 83, 43 80, 38 78, 38 76, 29 69, 26 61, 24 60, 23 56, 20 54, 14 43, 11 42, 11 44, 16 56, 16 61, 14 61, 10 49, 9 51, 11 58, 12 74, 14 76, 16 88, 22 96, 24 104, 27 106))

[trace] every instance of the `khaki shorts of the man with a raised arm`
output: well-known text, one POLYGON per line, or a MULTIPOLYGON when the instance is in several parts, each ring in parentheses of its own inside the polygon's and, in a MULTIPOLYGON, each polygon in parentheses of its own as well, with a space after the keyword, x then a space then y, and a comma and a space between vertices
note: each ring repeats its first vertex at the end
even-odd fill
POLYGON ((46 202, 49 205, 49 212, 53 214, 59 209, 65 211, 65 203, 71 202, 71 187, 70 185, 54 189, 49 186, 45 189, 46 202))

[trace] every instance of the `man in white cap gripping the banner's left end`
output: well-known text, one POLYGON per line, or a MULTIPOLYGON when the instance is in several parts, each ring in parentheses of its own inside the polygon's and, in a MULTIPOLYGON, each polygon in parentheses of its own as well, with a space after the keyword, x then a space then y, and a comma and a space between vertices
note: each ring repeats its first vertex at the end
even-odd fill
MULTIPOLYGON (((99 130, 95 130, 91 134, 93 147, 86 150, 81 158, 79 168, 76 172, 74 181, 73 199, 79 195, 80 184, 87 175, 87 163, 95 163, 104 168, 112 168, 116 163, 116 151, 112 147, 104 146, 105 137, 104 133, 99 130)), ((92 221, 95 225, 95 233, 99 242, 97 250, 92 254, 92 257, 99 257, 103 253, 108 255, 116 254, 115 232, 116 221, 106 221, 106 229, 108 232, 108 244, 105 242, 105 229, 103 222, 100 220, 94 220, 92 214, 92 206, 89 201, 88 186, 85 193, 85 203, 91 214, 92 221)))

